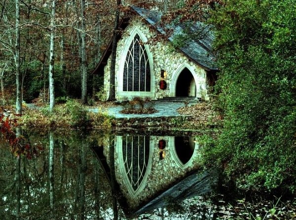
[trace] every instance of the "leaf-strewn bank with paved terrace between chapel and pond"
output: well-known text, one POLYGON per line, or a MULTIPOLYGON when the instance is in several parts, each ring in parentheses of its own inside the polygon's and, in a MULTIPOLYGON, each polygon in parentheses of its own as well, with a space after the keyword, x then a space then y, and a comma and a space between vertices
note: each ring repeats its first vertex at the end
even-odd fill
MULTIPOLYGON (((115 102, 97 102, 93 106, 86 106, 79 104, 75 101, 74 108, 69 109, 67 104, 57 104, 53 114, 49 114, 46 106, 37 106, 34 104, 25 104, 23 116, 18 119, 19 124, 29 127, 51 127, 51 128, 71 128, 75 124, 85 126, 83 120, 78 120, 81 113, 90 115, 90 122, 88 121, 89 128, 106 128, 108 129, 122 126, 122 120, 127 125, 135 125, 133 121, 139 121, 137 125, 144 127, 149 126, 169 126, 177 129, 201 129, 201 128, 213 128, 220 126, 222 121, 218 114, 213 110, 211 102, 176 102, 176 101, 152 101, 152 107, 156 112, 149 114, 123 114, 120 113, 125 107, 115 102), (85 109, 79 111, 79 109, 85 109), (74 111, 74 112, 72 112, 74 111), (88 112, 88 113, 87 113, 88 112), (78 123, 73 123, 73 114, 76 114, 78 123), (161 123, 159 124, 159 120, 161 123), (120 121, 120 123, 118 123, 120 121), (156 122, 158 121, 158 122, 156 122), (144 123, 142 123, 144 122, 144 123), (156 122, 156 123, 153 123, 156 122)), ((148 103, 145 107, 151 107, 151 103, 148 103), (149 104, 149 106, 148 106, 149 104)), ((136 106, 136 108, 139 108, 136 106)), ((13 113, 13 109, 10 112, 13 113)), ((14 117, 10 113, 10 118, 14 117)), ((82 117, 82 116, 81 116, 82 117)), ((80 118, 81 118, 80 117, 80 118)), ((167 128, 167 127, 166 127, 167 128)))

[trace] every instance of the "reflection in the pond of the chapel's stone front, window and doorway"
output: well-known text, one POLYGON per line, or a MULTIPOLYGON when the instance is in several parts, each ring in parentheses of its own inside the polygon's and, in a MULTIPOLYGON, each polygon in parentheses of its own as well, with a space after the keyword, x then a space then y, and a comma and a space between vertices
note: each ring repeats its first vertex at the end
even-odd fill
MULTIPOLYGON (((109 158, 109 146, 104 156, 109 158)), ((129 207, 136 209, 196 168, 196 157, 194 137, 115 136, 115 179, 129 207)))

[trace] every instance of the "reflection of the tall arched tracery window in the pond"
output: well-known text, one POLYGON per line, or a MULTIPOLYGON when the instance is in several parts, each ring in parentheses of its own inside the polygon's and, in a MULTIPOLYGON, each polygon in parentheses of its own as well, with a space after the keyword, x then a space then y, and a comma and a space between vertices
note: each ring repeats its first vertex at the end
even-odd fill
POLYGON ((137 194, 142 186, 148 168, 150 153, 149 137, 125 136, 122 137, 122 158, 126 178, 132 194, 137 194))

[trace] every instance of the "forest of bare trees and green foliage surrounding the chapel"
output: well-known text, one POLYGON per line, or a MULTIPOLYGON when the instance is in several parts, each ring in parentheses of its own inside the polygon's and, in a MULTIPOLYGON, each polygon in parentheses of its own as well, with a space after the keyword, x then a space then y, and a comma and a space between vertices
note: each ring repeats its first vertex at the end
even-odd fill
POLYGON ((215 33, 211 103, 223 125, 200 138, 204 166, 221 167, 240 189, 295 195, 294 0, 0 0, 1 106, 22 114, 23 102, 53 111, 66 97, 96 100, 103 76, 91 72, 128 5, 161 11, 163 22, 202 21, 215 33))

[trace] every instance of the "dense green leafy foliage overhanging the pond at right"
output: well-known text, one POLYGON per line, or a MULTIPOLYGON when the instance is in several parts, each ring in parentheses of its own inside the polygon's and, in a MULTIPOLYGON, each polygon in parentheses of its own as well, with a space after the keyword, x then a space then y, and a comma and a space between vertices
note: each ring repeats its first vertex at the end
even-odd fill
POLYGON ((241 188, 295 192, 295 1, 224 3, 211 19, 224 127, 205 159, 223 165, 241 188))

